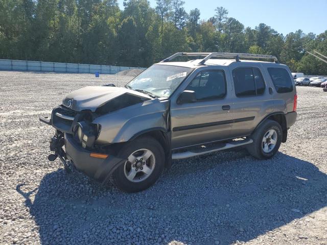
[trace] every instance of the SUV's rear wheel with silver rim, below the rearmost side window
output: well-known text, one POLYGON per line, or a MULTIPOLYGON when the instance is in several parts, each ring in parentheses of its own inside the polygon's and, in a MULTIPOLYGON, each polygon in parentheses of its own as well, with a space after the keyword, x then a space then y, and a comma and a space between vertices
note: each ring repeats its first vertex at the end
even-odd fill
POLYGON ((253 143, 250 144, 247 147, 248 153, 258 159, 269 159, 272 158, 278 151, 279 146, 281 146, 282 138, 283 138, 283 131, 281 125, 278 124, 278 122, 273 120, 266 120, 263 122, 263 124, 252 133, 251 138, 253 140, 253 143), (274 132, 270 136, 271 132, 274 132), (269 134, 267 134, 269 133, 269 134), (268 136, 268 138, 267 138, 268 136), (264 137, 265 142, 264 143, 264 137), (272 144, 273 140, 276 141, 276 143, 272 144), (266 147, 268 145, 268 149, 266 147))

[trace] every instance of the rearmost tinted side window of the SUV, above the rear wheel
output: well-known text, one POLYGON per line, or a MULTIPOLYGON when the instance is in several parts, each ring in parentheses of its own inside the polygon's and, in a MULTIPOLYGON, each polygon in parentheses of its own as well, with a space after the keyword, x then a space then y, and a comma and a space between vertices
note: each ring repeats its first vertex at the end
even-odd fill
POLYGON ((269 67, 268 72, 277 93, 288 93, 293 91, 293 83, 286 69, 269 67))

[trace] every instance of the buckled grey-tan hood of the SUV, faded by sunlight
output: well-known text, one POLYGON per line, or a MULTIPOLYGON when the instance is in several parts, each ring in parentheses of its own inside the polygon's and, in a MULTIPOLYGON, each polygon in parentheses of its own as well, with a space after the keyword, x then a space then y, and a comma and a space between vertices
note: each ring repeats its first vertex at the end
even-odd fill
POLYGON ((150 96, 123 87, 88 86, 66 95, 62 104, 74 111, 96 109, 123 94, 152 99, 150 96))

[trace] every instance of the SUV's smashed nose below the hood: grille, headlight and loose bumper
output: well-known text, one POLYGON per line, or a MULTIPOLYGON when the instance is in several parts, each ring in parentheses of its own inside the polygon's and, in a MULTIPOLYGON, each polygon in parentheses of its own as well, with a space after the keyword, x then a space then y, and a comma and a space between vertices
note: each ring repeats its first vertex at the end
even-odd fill
POLYGON ((116 157, 108 144, 96 143, 101 126, 92 121, 98 116, 95 112, 74 112, 59 106, 53 109, 50 119, 40 117, 41 121, 45 119, 46 124, 56 129, 50 140, 50 151, 54 153, 48 156, 48 160, 55 161, 58 158, 67 173, 71 172, 70 166, 73 166, 91 178, 106 182, 126 159, 116 157))

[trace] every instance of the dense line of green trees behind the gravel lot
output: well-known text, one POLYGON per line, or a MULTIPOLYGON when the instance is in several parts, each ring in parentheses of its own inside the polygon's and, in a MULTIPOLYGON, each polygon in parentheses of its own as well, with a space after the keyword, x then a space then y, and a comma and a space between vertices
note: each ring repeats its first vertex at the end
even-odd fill
POLYGON ((217 7, 201 20, 181 0, 1 0, 0 58, 148 67, 177 52, 275 55, 292 71, 327 74, 305 51, 327 54, 327 30, 283 35, 244 27, 217 7))

